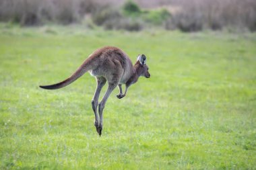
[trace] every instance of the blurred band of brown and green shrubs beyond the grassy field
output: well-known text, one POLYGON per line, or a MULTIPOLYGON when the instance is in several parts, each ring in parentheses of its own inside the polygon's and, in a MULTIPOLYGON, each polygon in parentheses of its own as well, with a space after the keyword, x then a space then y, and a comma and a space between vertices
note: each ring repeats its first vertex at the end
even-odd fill
POLYGON ((163 28, 255 32, 255 0, 0 0, 0 21, 21 26, 84 24, 139 31, 163 28))

